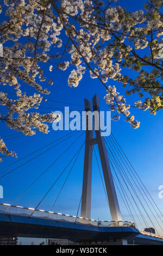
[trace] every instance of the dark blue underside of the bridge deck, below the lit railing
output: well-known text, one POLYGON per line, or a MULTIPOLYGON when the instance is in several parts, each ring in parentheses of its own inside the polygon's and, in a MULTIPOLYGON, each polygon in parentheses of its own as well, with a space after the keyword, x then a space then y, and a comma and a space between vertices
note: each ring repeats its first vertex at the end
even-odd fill
POLYGON ((60 238, 76 242, 132 239, 139 234, 133 227, 96 227, 46 218, 0 214, 0 236, 60 238))

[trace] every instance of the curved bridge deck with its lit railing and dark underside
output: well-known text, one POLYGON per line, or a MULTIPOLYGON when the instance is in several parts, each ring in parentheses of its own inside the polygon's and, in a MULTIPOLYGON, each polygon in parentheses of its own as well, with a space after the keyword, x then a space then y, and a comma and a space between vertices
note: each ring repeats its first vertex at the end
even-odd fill
POLYGON ((132 222, 94 221, 21 206, 0 204, 0 236, 60 238, 71 241, 134 239, 138 244, 163 244, 156 235, 135 228, 132 222), (141 234, 143 233, 143 234, 141 234))

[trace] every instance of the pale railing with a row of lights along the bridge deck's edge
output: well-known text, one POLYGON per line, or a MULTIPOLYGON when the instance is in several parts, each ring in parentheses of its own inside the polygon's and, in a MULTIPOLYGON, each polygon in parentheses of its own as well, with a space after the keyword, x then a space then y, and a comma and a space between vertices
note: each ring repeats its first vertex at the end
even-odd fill
POLYGON ((76 222, 82 224, 90 224, 97 227, 135 227, 133 222, 128 221, 96 221, 89 220, 82 217, 71 216, 68 214, 60 214, 59 212, 45 211, 45 210, 35 210, 33 208, 26 208, 23 206, 15 206, 9 204, 0 204, 0 213, 9 215, 19 215, 19 216, 31 216, 37 218, 44 218, 47 220, 54 221, 67 221, 76 222))

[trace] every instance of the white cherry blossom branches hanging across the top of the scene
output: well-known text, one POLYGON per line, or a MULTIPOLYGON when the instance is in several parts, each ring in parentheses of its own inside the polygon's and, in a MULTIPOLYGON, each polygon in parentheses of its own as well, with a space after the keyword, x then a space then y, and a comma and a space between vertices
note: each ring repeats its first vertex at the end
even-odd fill
MULTIPOLYGON (((106 89, 112 119, 123 116, 134 129, 140 125, 135 107, 152 114, 163 108, 162 0, 149 0, 143 10, 133 12, 117 0, 107 4, 98 0, 1 2, 0 104, 8 114, 0 118, 11 129, 25 135, 37 130, 47 133, 47 122, 59 119, 36 111, 50 93, 58 70, 68 70, 70 87, 77 87, 89 70, 87 74, 106 89), (135 75, 129 75, 128 69, 135 75), (114 81, 118 86, 111 84, 114 81), (35 93, 24 93, 24 84, 35 93), (5 93, 8 87, 15 95, 5 93)), ((0 151, 14 156, 3 140, 0 151)))

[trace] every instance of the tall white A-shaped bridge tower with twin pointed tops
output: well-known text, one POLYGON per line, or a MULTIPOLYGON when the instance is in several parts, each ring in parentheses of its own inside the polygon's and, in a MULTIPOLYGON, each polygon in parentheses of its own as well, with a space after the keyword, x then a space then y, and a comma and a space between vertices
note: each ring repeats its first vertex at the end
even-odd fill
MULTIPOLYGON (((85 111, 92 112, 92 106, 90 101, 86 100, 85 111)), ((100 108, 97 94, 92 99, 93 112, 98 112, 98 124, 100 124, 100 108)), ((112 221, 122 221, 122 215, 120 206, 118 204, 117 194, 114 186, 114 181, 111 174, 110 164, 108 155, 106 153, 104 138, 101 136, 101 127, 95 129, 96 138, 93 138, 93 129, 89 130, 89 118, 92 114, 87 115, 86 113, 86 136, 85 136, 85 156, 84 156, 84 173, 83 173, 83 190, 82 190, 82 206, 81 206, 81 217, 91 218, 91 185, 92 185, 92 146, 98 145, 99 156, 102 163, 102 169, 105 180, 106 193, 108 196, 110 214, 112 221)), ((95 120, 95 115, 94 115, 95 120)), ((95 122, 94 122, 95 123, 95 122)), ((92 125, 93 126, 93 125, 92 125)), ((95 127, 94 127, 95 128, 95 127)))

